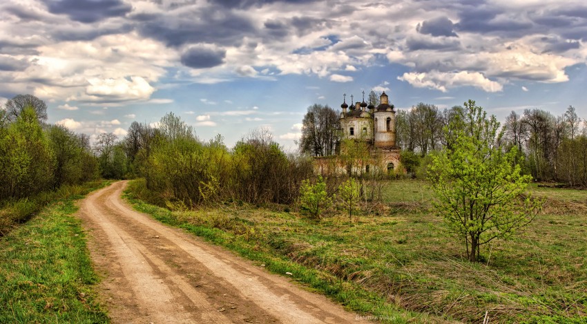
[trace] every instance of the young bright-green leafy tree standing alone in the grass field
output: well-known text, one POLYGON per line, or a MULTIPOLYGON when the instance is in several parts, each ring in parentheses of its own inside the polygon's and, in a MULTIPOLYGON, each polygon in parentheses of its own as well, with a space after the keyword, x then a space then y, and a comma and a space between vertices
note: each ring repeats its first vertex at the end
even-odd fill
POLYGON ((481 245, 509 238, 528 225, 540 202, 524 196, 531 177, 521 175, 517 150, 506 152, 499 144, 502 133, 497 133, 495 116, 488 118, 469 100, 464 115, 448 128, 454 132, 450 145, 432 157, 428 179, 436 193, 436 213, 476 262, 481 245))

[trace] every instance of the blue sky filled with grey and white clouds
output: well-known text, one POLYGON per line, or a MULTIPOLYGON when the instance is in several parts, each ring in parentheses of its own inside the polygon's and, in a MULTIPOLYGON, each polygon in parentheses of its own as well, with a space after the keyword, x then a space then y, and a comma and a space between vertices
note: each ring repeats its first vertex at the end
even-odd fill
POLYGON ((503 120, 587 118, 584 0, 8 0, 0 104, 95 137, 168 112, 231 146, 269 128, 296 149, 308 106, 385 91, 398 109, 474 99, 503 120))

